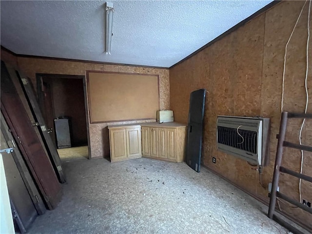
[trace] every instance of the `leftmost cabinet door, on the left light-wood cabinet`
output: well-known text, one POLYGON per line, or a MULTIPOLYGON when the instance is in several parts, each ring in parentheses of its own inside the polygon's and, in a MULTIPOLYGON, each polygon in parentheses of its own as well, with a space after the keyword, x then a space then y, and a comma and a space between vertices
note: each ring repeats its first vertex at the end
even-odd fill
POLYGON ((111 141, 111 160, 116 161, 127 157, 126 130, 109 130, 111 141))

